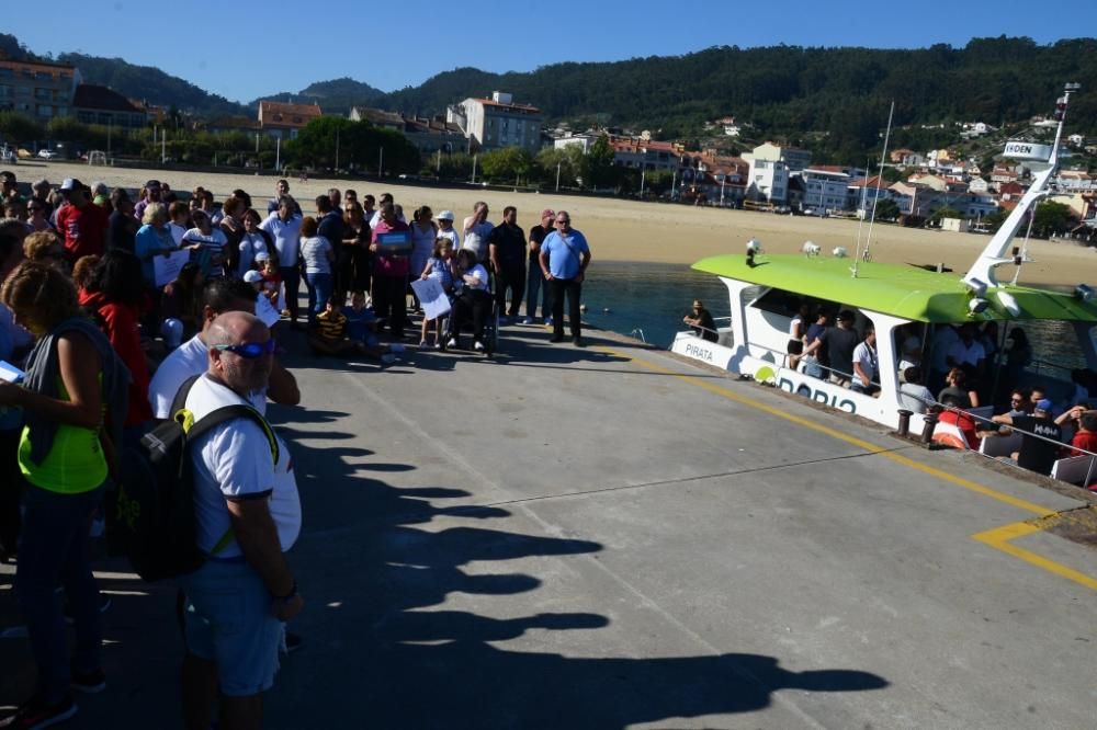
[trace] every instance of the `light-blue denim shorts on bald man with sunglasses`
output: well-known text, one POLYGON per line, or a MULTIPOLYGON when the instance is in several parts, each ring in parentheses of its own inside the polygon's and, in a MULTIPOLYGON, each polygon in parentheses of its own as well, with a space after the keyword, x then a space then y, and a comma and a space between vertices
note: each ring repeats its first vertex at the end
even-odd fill
POLYGON ((180 583, 186 594, 186 649, 217 664, 220 692, 248 697, 270 689, 283 627, 259 573, 242 558, 214 559, 180 583))

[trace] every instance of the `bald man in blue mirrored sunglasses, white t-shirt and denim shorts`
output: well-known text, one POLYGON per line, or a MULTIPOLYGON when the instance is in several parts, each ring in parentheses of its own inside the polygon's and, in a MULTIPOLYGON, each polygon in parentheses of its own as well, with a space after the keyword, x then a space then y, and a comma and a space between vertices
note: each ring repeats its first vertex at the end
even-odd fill
MULTIPOLYGON (((208 369, 185 408, 195 421, 225 406, 248 406, 273 365, 270 330, 242 311, 206 329, 208 369)), ((239 418, 194 440, 197 546, 210 554, 180 579, 186 594, 182 670, 184 725, 259 727, 262 693, 274 683, 283 621, 304 601, 285 559, 301 532, 293 459, 270 424, 239 418), (226 539, 227 538, 227 539, 226 539)))

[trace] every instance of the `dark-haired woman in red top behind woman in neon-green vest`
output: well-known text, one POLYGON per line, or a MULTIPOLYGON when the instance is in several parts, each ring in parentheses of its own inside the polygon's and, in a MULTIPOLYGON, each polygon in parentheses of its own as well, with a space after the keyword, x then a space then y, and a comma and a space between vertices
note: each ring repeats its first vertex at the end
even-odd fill
POLYGON ((135 444, 152 420, 148 402, 150 376, 138 324, 146 306, 140 271, 136 255, 112 249, 100 259, 91 281, 80 292, 80 305, 92 312, 114 352, 129 368, 129 409, 122 435, 126 444, 135 444))

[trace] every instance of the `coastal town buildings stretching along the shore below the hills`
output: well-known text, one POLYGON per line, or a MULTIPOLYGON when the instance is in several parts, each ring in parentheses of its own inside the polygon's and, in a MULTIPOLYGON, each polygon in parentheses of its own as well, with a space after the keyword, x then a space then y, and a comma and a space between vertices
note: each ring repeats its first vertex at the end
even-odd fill
MULTIPOLYGON (((444 114, 429 117, 366 106, 352 106, 346 116, 339 116, 392 132, 414 147, 425 160, 423 171, 400 173, 404 179, 437 179, 431 174, 430 162, 437 160, 433 172, 441 173, 443 156, 454 153, 485 156, 512 150, 529 157, 547 150, 573 150, 586 156, 601 140, 609 153, 608 162, 633 173, 631 184, 636 189, 630 194, 641 198, 646 191, 647 197, 695 205, 821 217, 872 215, 906 226, 929 225, 959 231, 993 232, 996 223, 1017 205, 1032 176, 1024 162, 1010 163, 987 155, 979 159, 970 150, 964 155, 964 144, 970 148, 979 140, 1002 139, 998 127, 982 121, 955 123, 957 145, 951 148, 890 149, 885 150, 882 166, 877 162, 841 166, 813 163, 808 149, 788 144, 770 140, 751 144, 750 125, 737 122, 734 116, 706 123, 705 129, 712 134, 706 138, 710 145, 692 149, 683 141, 655 139, 647 130, 575 130, 567 124, 550 125, 545 114, 529 101, 534 100, 516 101, 510 93, 494 91, 489 96, 454 101, 444 114)), ((47 124, 53 119, 73 119, 82 125, 114 128, 117 134, 151 126, 152 147, 156 147, 156 129, 160 129, 165 149, 169 134, 166 121, 172 114, 172 110, 127 99, 110 88, 83 83, 78 67, 13 60, 0 60, 0 111, 3 110, 47 124)), ((185 119, 184 125, 215 138, 234 134, 255 138, 257 152, 262 137, 268 144, 273 140, 280 151, 282 141, 297 139, 310 123, 325 116, 331 115, 326 115, 318 103, 264 99, 259 100, 256 116, 251 118, 192 118, 185 119)), ((1014 124, 1011 132, 1047 139, 1054 124, 1052 118, 1036 116, 1014 124)), ((174 126, 178 132, 178 119, 174 126)), ((77 149, 79 145, 65 139, 55 140, 53 146, 45 142, 21 146, 23 141, 3 140, 5 159, 18 162, 20 157, 71 156, 105 164, 126 163, 124 156, 77 149)), ((1064 142, 1083 159, 1097 157, 1097 140, 1071 134, 1064 142)), ((383 169, 383 157, 382 152, 382 159, 372 166, 372 174, 383 169)), ((259 166, 259 156, 240 161, 245 168, 259 166)), ((279 156, 273 171, 281 167, 279 156)), ((344 156, 340 161, 337 151, 329 172, 371 174, 370 170, 371 164, 363 160, 353 161, 344 156)), ((476 174, 473 161, 472 182, 476 182, 476 174)), ((505 182, 498 179, 501 172, 495 176, 494 182, 505 182)), ((485 178, 483 166, 479 178, 485 178)), ((521 175, 518 178, 520 182, 521 175)), ((576 182, 581 185, 585 181, 580 176, 573 184, 576 182)), ((555 190, 559 187, 557 169, 555 190)), ((597 185, 587 187, 599 190, 597 185)), ((622 192, 622 189, 619 184, 602 192, 622 192)), ((1048 202, 1062 207, 1058 209, 1059 220, 1050 230, 1039 231, 1041 235, 1095 240, 1097 179, 1089 170, 1064 164, 1048 202)))

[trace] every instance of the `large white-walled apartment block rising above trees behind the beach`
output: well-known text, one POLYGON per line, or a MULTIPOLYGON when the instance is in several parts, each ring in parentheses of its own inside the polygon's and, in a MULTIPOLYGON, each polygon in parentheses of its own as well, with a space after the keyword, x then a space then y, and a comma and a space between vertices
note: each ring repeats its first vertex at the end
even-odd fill
POLYGON ((531 152, 541 147, 544 114, 536 106, 516 104, 502 91, 493 92, 491 99, 470 98, 450 106, 445 121, 461 127, 470 147, 522 147, 531 152))

